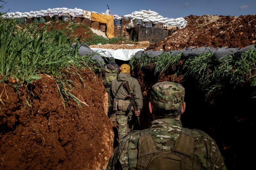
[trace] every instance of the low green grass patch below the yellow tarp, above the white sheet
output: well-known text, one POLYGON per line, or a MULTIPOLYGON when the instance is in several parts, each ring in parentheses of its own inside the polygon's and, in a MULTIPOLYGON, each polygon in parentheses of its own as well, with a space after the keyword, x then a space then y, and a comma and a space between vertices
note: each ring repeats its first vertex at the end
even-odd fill
MULTIPOLYGON (((91 31, 88 31, 88 33, 89 32, 91 33, 91 31)), ((101 44, 114 44, 114 43, 119 42, 119 41, 124 41, 124 38, 114 37, 114 38, 111 38, 111 39, 107 39, 107 38, 104 38, 104 37, 99 36, 99 35, 92 35, 90 38, 84 40, 84 42, 87 45, 97 45, 99 43, 101 43, 101 44)))

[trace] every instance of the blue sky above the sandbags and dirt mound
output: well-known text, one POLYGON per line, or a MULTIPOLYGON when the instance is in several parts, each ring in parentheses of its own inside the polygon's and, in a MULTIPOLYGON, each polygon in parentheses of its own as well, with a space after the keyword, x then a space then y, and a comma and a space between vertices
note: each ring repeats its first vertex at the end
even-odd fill
MULTIPOLYGON (((1 12, 29 12, 47 10, 48 8, 66 7, 81 8, 88 11, 105 12, 107 4, 111 14, 119 16, 132 11, 151 10, 168 18, 186 17, 189 15, 252 15, 256 14, 256 0, 4 0, 7 4, 1 12)), ((0 2, 0 4, 3 4, 0 2)))

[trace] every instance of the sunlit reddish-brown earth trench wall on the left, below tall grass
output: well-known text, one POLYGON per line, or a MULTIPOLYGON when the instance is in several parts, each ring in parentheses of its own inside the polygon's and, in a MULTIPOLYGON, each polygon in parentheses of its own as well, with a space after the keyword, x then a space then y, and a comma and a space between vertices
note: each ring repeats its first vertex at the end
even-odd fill
POLYGON ((70 70, 70 91, 85 102, 63 102, 56 82, 40 75, 26 88, 0 84, 0 169, 103 169, 113 151, 102 79, 80 70, 85 86, 70 70), (18 94, 18 96, 17 96, 18 94), (63 110, 65 106, 65 110, 63 110))

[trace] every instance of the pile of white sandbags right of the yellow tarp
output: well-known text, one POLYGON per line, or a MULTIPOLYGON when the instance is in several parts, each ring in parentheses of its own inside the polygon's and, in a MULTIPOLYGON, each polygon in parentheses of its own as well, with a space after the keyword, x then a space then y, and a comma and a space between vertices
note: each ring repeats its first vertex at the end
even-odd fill
POLYGON ((184 18, 164 18, 163 16, 159 15, 155 11, 134 11, 131 14, 124 15, 122 18, 130 18, 131 23, 133 23, 134 19, 141 19, 144 23, 145 22, 152 22, 153 24, 162 23, 164 26, 177 26, 179 29, 185 28, 188 21, 184 18))

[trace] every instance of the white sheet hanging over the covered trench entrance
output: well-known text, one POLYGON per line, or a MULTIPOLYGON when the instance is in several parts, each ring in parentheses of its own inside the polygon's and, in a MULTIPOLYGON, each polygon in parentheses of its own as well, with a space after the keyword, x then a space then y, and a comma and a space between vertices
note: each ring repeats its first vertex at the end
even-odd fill
POLYGON ((144 51, 144 49, 106 49, 106 48, 91 48, 94 52, 100 53, 105 57, 114 57, 118 60, 130 60, 132 55, 134 55, 138 51, 144 51))

